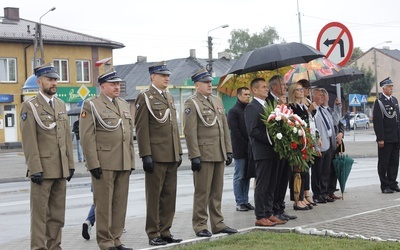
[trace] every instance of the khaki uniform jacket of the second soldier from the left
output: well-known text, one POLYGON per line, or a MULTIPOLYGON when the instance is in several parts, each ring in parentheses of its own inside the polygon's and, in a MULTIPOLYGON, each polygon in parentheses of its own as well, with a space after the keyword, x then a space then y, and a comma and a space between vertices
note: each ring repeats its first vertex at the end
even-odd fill
POLYGON ((128 103, 115 98, 114 105, 100 93, 83 103, 79 134, 88 170, 135 169, 133 120, 128 103))

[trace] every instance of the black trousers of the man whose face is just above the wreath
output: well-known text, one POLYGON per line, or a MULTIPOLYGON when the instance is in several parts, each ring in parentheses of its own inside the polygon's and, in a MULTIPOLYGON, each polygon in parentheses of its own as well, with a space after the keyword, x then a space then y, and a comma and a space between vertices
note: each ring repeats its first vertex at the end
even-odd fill
POLYGON ((282 214, 283 212, 285 212, 285 196, 289 183, 290 167, 287 160, 279 159, 278 157, 276 160, 276 164, 274 165, 277 168, 277 182, 274 193, 273 210, 274 214, 282 214))

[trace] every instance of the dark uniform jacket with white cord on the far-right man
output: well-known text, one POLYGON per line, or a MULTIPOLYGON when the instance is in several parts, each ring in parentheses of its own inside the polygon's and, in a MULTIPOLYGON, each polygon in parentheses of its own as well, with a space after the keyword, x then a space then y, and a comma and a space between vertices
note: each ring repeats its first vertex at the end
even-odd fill
POLYGON ((399 103, 394 96, 391 98, 393 101, 381 95, 378 100, 382 106, 375 100, 373 123, 376 141, 400 142, 399 103))

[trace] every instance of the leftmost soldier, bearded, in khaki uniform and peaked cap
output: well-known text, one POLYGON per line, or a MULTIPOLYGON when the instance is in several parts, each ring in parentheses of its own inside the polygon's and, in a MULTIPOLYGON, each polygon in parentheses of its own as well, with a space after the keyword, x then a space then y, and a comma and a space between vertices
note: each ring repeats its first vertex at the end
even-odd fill
POLYGON ((31 249, 61 249, 66 181, 75 168, 65 103, 55 97, 51 64, 35 68, 39 92, 21 110, 22 145, 31 179, 31 249))

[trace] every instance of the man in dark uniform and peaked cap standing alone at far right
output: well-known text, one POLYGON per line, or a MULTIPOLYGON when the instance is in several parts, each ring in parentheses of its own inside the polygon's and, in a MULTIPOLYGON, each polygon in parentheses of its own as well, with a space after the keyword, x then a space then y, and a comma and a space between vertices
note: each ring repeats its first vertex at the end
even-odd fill
POLYGON ((380 82, 382 94, 374 103, 373 122, 378 143, 378 175, 381 191, 400 192, 397 185, 400 148, 399 103, 393 94, 393 82, 386 78, 380 82))

